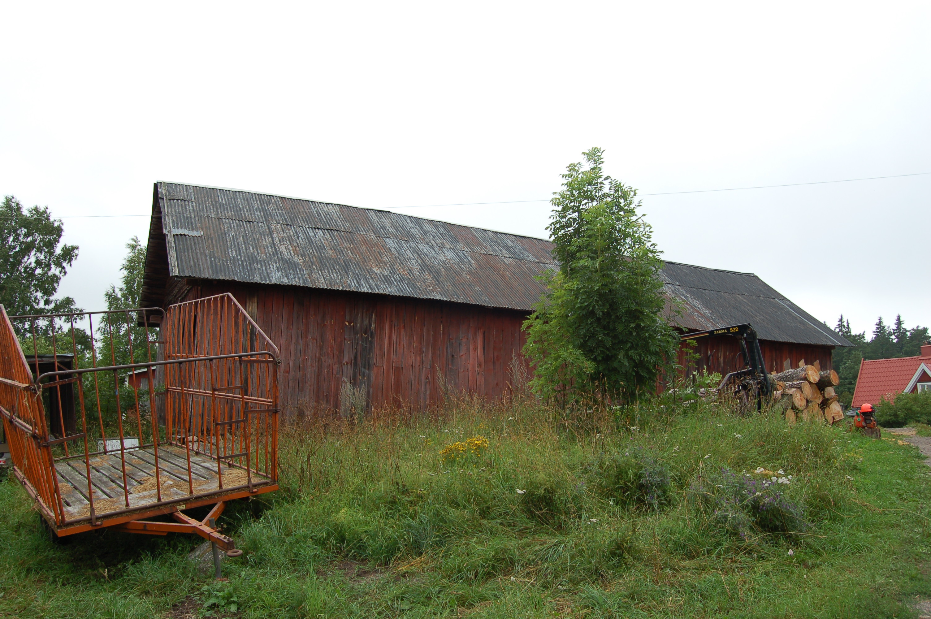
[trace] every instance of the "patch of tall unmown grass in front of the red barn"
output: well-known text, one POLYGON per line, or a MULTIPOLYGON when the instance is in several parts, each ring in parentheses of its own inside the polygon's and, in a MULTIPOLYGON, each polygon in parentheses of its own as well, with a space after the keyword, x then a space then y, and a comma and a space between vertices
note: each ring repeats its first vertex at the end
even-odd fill
MULTIPOLYGON (((280 461, 293 502, 277 510, 275 531, 377 565, 426 555, 451 577, 472 581, 522 571, 552 583, 594 581, 637 548, 655 546, 654 528, 637 532, 638 519, 662 522, 667 536, 676 526, 695 530, 695 518, 713 520, 696 491, 722 472, 770 485, 781 470, 775 477, 790 476, 789 483, 769 491, 820 513, 849 472, 841 436, 821 424, 788 426, 773 413, 741 417, 698 404, 669 414, 652 402, 591 410, 584 423, 526 401, 461 399, 432 419, 292 424, 280 461), (487 449, 440 453, 471 437, 487 439, 487 449), (458 555, 467 559, 451 558, 458 555)), ((268 526, 243 532, 259 554, 280 550, 269 543, 268 526)), ((734 555, 737 546, 780 539, 753 526, 738 540, 716 536, 722 528, 713 522, 699 529, 707 531, 703 539, 665 541, 734 555)), ((802 532, 786 532, 795 533, 802 532)))

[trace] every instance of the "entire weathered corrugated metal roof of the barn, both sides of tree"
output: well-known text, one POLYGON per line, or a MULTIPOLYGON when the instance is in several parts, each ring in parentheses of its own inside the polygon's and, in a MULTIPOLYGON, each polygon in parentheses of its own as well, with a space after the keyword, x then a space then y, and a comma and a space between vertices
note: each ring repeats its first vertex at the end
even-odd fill
MULTIPOLYGON (((170 275, 529 311, 544 292, 535 277, 557 268, 540 238, 172 182, 155 183, 149 239, 143 303, 154 305, 170 275)), ((851 345, 757 276, 667 262, 663 277, 685 329, 749 322, 764 340, 851 345)))

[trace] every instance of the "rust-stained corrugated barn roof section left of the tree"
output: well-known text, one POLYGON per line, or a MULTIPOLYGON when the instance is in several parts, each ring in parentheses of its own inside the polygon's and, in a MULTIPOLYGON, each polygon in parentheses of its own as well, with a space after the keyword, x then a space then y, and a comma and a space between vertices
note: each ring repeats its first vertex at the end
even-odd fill
POLYGON ((551 244, 385 210, 156 183, 172 276, 529 310, 551 244))

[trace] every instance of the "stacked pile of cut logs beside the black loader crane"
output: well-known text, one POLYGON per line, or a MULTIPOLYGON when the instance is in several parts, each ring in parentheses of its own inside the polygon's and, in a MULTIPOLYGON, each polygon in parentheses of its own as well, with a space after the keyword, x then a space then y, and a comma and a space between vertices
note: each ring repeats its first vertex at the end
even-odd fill
POLYGON ((836 371, 803 365, 773 374, 770 379, 776 387, 773 398, 786 411, 790 424, 799 420, 836 424, 843 419, 843 407, 834 393, 841 382, 836 371))

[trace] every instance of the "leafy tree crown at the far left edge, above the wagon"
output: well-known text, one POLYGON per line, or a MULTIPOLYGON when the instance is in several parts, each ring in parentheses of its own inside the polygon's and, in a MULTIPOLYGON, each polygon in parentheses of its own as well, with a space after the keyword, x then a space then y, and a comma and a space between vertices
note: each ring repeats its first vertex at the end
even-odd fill
POLYGON ((74 299, 55 298, 61 277, 77 258, 62 245, 64 228, 48 207, 24 210, 12 195, 0 205, 0 303, 10 316, 74 311, 74 299))

